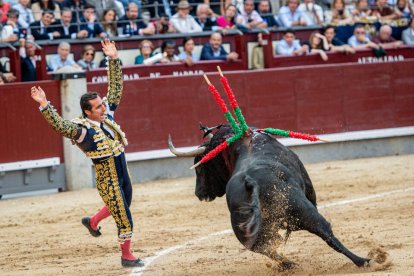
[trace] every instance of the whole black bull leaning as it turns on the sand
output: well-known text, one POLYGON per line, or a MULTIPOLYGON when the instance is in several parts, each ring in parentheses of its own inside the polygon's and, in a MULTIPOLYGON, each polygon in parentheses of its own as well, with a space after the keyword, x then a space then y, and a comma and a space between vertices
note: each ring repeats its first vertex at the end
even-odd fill
MULTIPOLYGON (((219 130, 196 151, 177 156, 196 156, 197 163, 232 131, 219 130)), ((330 224, 318 213, 312 182, 298 156, 268 134, 253 131, 239 139, 212 160, 196 167, 195 194, 211 201, 226 194, 231 225, 237 239, 248 249, 264 254, 289 268, 294 263, 276 252, 282 238, 279 229, 308 230, 330 247, 344 254, 357 266, 368 266, 369 259, 349 251, 333 234, 330 224)))

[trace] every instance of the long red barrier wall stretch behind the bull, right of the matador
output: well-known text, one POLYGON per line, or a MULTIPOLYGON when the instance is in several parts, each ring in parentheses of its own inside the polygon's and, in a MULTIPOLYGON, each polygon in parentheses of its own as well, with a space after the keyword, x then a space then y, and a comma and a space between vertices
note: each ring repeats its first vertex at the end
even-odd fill
MULTIPOLYGON (((395 63, 292 67, 231 72, 227 76, 247 123, 309 133, 390 128, 414 124, 414 60, 395 63)), ((217 74, 209 74, 220 91, 217 74)), ((106 84, 89 84, 106 91, 106 84)), ((117 121, 128 152, 199 144, 198 122, 224 122, 201 76, 124 82, 117 121)), ((224 95, 224 94, 222 94, 224 95)))

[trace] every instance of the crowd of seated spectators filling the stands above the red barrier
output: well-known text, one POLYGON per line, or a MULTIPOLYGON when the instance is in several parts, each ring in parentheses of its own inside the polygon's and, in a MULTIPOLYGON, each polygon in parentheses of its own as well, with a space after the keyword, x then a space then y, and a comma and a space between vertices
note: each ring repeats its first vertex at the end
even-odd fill
MULTIPOLYGON (((74 66, 91 70, 104 66, 94 63, 95 49, 86 45, 78 62, 69 60, 68 39, 148 36, 167 33, 213 31, 201 56, 194 54, 194 41, 186 37, 183 52, 178 53, 174 41, 166 40, 159 52, 150 40, 142 40, 135 64, 185 62, 198 60, 237 60, 235 52, 226 52, 222 35, 229 29, 247 32, 252 29, 283 28, 283 38, 277 42, 275 54, 303 55, 316 53, 327 60, 326 52, 353 53, 357 49, 374 49, 380 55, 387 47, 403 43, 414 44, 414 9, 412 0, 0 0, 1 42, 20 46, 22 70, 35 70, 32 46, 38 41, 61 40, 56 57, 48 69, 59 70, 74 66), (388 25, 394 20, 406 20, 408 28, 402 41, 391 36, 388 25), (363 24, 380 22, 378 33, 369 33, 363 24), (335 26, 355 24, 348 41, 335 37, 335 26), (324 26, 302 43, 295 39, 298 26, 324 26), (382 50, 381 50, 382 49, 382 50), (30 64, 32 63, 32 64, 30 64)), ((261 37, 258 37, 261 46, 261 37)), ((257 51, 259 56, 260 53, 257 51)), ((259 57, 258 56, 258 57, 259 57)), ((258 59, 259 60, 259 59, 258 59)), ((259 64, 254 66, 261 68, 259 64)), ((5 77, 4 68, 2 81, 5 77)), ((22 71, 26 72, 26 71, 22 71)), ((35 74, 23 74, 24 80, 34 80, 35 74)))

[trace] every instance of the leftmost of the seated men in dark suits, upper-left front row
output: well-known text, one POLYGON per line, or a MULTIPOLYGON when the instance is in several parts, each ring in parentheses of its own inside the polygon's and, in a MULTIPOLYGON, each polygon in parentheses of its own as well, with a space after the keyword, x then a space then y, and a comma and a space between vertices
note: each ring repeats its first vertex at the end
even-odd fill
POLYGON ((30 24, 30 30, 35 40, 53 40, 60 38, 60 33, 52 25, 54 13, 44 10, 42 18, 30 24))

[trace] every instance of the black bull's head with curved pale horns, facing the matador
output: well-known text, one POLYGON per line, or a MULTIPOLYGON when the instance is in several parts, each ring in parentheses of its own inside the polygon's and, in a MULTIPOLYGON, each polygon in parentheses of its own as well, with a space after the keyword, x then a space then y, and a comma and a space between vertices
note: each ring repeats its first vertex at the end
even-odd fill
MULTIPOLYGON (((168 139, 170 151, 176 156, 194 157, 194 164, 224 141, 226 135, 231 134, 229 126, 219 125, 214 128, 201 126, 207 141, 197 149, 190 152, 179 152, 172 144, 171 137, 168 139), (214 134, 215 129, 218 129, 214 134)), ((212 201, 216 197, 221 197, 226 193, 226 184, 230 177, 226 162, 222 155, 218 155, 207 163, 203 163, 195 168, 196 170, 196 188, 195 194, 200 200, 212 201)))

